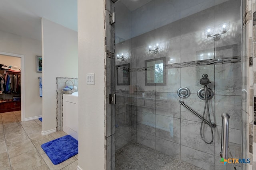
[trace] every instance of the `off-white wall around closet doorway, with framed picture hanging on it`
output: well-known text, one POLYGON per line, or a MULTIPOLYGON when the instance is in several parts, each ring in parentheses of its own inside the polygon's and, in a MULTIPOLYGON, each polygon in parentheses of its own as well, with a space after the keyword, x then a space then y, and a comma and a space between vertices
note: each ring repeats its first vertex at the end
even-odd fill
MULTIPOLYGON (((0 51, 25 56, 25 111, 24 118, 42 115, 42 98, 39 96, 36 55, 42 54, 41 41, 0 31, 0 51)), ((1 62, 0 62, 1 63, 1 62)))

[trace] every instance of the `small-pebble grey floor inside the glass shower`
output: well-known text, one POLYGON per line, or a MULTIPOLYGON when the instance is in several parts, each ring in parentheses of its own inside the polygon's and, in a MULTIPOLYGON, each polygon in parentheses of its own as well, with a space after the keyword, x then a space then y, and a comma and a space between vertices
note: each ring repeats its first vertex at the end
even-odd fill
POLYGON ((116 151, 116 170, 202 170, 138 143, 116 151))

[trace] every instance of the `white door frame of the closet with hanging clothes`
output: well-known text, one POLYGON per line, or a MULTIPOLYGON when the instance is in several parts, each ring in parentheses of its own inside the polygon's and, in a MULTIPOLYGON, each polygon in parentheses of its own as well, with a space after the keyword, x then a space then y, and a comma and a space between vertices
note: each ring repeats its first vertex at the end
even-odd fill
POLYGON ((21 121, 25 121, 25 56, 0 51, 0 55, 20 58, 20 89, 21 89, 21 121))

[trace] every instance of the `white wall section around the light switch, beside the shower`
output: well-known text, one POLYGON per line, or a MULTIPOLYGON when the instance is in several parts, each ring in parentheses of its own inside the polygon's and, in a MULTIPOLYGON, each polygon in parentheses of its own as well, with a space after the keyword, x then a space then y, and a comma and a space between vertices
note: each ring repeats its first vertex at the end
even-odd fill
POLYGON ((104 2, 78 0, 78 168, 82 170, 105 169, 104 2), (86 84, 86 73, 95 73, 95 84, 86 84))

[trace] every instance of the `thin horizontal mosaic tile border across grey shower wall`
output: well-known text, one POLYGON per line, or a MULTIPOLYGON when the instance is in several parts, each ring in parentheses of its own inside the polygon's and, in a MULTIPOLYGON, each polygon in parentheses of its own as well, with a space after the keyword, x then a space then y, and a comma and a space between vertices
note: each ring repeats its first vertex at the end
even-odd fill
MULTIPOLYGON (((238 62, 241 62, 241 56, 225 57, 225 58, 218 58, 218 59, 198 60, 198 61, 190 61, 190 62, 184 62, 184 63, 166 64, 164 66, 164 68, 183 68, 183 67, 192 67, 192 66, 206 66, 206 65, 238 63, 238 62)), ((152 67, 131 68, 130 72, 153 70, 153 69, 154 68, 152 68, 152 67)))

